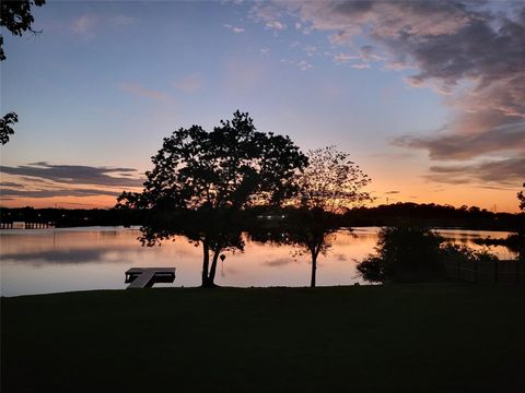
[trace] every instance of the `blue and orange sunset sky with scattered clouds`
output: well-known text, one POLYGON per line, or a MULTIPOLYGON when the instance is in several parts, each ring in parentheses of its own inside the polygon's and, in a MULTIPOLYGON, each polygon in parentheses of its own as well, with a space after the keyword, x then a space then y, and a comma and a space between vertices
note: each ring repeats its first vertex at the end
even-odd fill
POLYGON ((517 212, 525 5, 48 1, 4 36, 2 206, 108 207, 162 138, 240 109, 304 151, 338 145, 399 201, 517 212))

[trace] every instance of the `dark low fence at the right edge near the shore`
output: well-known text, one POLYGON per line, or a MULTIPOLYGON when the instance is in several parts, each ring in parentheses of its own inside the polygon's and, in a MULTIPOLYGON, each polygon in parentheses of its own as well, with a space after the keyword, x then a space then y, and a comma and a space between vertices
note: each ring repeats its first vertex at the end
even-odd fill
POLYGON ((447 261, 451 279, 525 286, 525 261, 447 261))

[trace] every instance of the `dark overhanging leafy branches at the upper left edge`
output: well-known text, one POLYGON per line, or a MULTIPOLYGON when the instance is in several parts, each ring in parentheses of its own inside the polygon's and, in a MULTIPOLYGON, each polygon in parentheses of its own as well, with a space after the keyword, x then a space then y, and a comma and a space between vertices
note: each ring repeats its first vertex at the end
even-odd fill
MULTIPOLYGON (((32 28, 35 21, 31 13, 31 7, 42 7, 45 0, 3 0, 0 2, 0 27, 5 27, 11 34, 22 36, 24 32, 39 33, 32 28)), ((5 60, 3 51, 3 36, 0 34, 0 61, 5 60)), ((9 136, 14 133, 11 124, 19 121, 15 112, 9 112, 0 119, 0 142, 3 144, 9 142, 9 136)))

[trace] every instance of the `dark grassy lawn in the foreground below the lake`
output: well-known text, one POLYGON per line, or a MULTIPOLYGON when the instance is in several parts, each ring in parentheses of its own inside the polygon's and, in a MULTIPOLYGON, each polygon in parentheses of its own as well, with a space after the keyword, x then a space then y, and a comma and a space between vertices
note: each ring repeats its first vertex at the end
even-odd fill
POLYGON ((525 392, 525 290, 139 289, 2 298, 2 392, 525 392))

